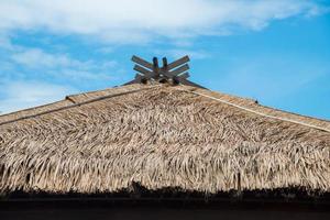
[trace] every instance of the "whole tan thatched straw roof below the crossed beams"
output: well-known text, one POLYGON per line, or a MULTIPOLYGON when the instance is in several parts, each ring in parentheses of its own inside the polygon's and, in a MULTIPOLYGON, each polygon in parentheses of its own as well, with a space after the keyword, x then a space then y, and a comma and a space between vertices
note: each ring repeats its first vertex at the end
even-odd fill
POLYGON ((130 85, 0 117, 0 190, 330 191, 330 122, 187 86, 130 85))

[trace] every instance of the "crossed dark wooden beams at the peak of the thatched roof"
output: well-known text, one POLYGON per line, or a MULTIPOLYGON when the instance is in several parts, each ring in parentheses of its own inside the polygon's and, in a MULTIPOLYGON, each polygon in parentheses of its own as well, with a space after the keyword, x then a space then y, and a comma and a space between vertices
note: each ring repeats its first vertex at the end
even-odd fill
POLYGON ((188 56, 184 56, 170 64, 167 64, 167 58, 163 57, 163 66, 160 67, 158 58, 154 57, 153 63, 148 63, 139 56, 132 56, 132 62, 135 63, 134 70, 138 72, 135 78, 124 85, 130 84, 146 84, 147 81, 154 80, 158 82, 172 82, 173 85, 187 85, 204 88, 198 84, 189 81, 189 62, 188 56))

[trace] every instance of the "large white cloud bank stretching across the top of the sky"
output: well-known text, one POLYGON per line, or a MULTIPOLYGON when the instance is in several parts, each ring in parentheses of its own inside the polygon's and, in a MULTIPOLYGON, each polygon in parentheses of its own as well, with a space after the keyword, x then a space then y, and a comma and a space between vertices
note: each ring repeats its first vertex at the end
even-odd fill
POLYGON ((46 29, 109 42, 147 42, 261 30, 272 20, 316 15, 307 0, 2 0, 0 30, 46 29))

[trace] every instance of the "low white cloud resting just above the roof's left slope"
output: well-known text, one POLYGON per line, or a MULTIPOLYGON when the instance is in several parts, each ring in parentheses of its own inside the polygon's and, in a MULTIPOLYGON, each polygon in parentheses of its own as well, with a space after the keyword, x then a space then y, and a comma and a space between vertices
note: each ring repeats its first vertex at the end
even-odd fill
POLYGON ((19 81, 0 86, 0 114, 46 105, 76 92, 70 87, 40 81, 19 81))

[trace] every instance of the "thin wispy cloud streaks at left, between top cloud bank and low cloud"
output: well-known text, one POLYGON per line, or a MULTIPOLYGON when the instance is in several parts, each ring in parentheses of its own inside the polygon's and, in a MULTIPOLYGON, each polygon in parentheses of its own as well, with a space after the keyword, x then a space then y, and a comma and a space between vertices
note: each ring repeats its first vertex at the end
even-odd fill
POLYGON ((66 53, 15 45, 10 41, 3 41, 3 46, 0 47, 0 56, 2 56, 0 61, 2 80, 4 78, 13 79, 22 74, 25 75, 25 78, 53 77, 53 79, 56 79, 62 77, 72 82, 81 82, 86 79, 110 80, 114 77, 110 72, 114 72, 113 69, 118 67, 118 63, 113 59, 98 61, 91 58, 80 61, 66 53))

